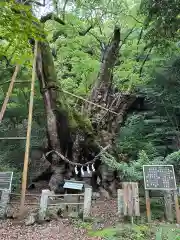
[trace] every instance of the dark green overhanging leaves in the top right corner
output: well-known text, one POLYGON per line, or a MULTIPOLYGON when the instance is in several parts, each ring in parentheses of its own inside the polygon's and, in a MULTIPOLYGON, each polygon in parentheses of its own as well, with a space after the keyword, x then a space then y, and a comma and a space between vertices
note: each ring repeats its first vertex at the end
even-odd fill
POLYGON ((147 17, 145 28, 147 35, 154 38, 160 44, 168 44, 168 41, 178 38, 180 2, 177 0, 142 0, 141 12, 147 17))

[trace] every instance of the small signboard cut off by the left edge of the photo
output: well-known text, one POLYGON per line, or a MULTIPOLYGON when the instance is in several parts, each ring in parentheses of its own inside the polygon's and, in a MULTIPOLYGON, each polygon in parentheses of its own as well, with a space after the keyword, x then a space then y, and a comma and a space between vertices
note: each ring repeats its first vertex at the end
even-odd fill
POLYGON ((0 172, 0 190, 11 190, 13 172, 0 172))

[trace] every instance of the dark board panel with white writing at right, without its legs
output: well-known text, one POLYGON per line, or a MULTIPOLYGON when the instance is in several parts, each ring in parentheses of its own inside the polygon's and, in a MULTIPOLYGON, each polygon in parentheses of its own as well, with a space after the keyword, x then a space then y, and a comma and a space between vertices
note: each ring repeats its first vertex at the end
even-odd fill
POLYGON ((176 190, 173 165, 144 165, 144 187, 146 190, 176 190))

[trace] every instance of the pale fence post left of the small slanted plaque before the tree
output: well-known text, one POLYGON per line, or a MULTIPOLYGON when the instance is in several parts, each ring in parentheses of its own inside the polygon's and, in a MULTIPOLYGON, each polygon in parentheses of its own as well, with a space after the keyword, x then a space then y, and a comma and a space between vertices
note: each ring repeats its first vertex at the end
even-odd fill
POLYGON ((42 190, 41 200, 40 200, 40 209, 39 209, 39 220, 41 221, 44 221, 46 217, 49 196, 50 196, 50 191, 48 189, 42 190))

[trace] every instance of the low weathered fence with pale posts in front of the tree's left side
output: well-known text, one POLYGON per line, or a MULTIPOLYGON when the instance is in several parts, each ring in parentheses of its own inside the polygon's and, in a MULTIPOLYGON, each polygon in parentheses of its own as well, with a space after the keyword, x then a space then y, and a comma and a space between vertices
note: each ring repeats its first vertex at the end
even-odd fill
MULTIPOLYGON (((0 218, 4 218, 7 213, 8 204, 14 205, 19 204, 20 201, 15 201, 14 198, 20 198, 20 194, 10 193, 9 191, 3 190, 0 195, 0 218)), ((85 188, 82 194, 52 194, 50 190, 42 190, 42 194, 26 194, 31 198, 36 199, 36 202, 26 202, 25 205, 36 205, 39 209, 39 218, 44 220, 47 215, 48 208, 62 206, 71 210, 72 206, 76 211, 81 209, 83 211, 83 218, 87 218, 90 214, 91 203, 92 203, 92 188, 85 188)))

